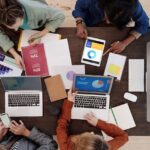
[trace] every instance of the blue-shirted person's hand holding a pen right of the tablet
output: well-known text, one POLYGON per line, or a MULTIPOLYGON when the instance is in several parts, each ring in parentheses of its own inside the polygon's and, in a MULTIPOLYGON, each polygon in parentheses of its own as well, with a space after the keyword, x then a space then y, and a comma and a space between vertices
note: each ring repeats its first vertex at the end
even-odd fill
POLYGON ((116 41, 114 43, 111 44, 111 52, 114 52, 114 53, 121 53, 122 51, 125 50, 126 48, 126 44, 124 44, 124 42, 122 41, 116 41))

